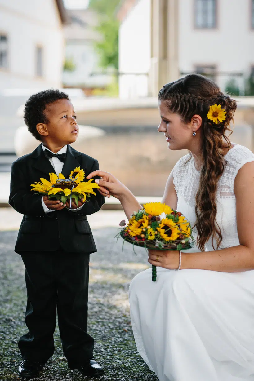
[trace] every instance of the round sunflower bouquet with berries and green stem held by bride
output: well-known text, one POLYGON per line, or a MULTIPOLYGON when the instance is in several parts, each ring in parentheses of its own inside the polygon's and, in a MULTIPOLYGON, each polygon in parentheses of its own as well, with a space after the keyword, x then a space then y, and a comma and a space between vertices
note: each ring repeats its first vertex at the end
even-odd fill
MULTIPOLYGON (((182 213, 166 204, 144 204, 143 209, 133 212, 130 217, 127 225, 121 221, 120 226, 124 228, 117 234, 124 242, 154 250, 187 250, 194 246, 190 223, 182 213)), ((156 266, 153 266, 152 273, 155 282, 156 266)))

